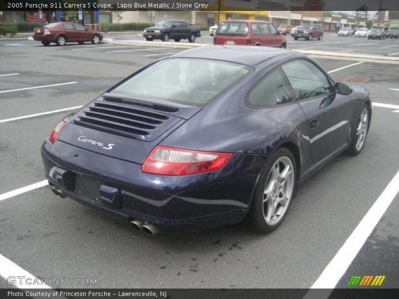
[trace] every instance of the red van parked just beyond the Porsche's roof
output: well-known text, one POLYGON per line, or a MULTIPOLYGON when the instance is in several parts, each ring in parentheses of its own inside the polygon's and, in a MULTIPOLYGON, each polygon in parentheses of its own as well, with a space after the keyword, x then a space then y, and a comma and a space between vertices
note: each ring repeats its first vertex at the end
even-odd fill
POLYGON ((272 23, 252 20, 220 22, 213 37, 213 43, 215 45, 287 47, 287 40, 272 23))

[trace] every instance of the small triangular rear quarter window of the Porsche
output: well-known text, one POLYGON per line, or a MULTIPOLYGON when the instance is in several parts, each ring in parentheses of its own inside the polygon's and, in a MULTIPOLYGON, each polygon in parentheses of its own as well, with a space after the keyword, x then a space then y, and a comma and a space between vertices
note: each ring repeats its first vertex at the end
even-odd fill
POLYGON ((278 68, 259 81, 247 99, 250 106, 265 107, 291 103, 294 101, 294 96, 278 68))

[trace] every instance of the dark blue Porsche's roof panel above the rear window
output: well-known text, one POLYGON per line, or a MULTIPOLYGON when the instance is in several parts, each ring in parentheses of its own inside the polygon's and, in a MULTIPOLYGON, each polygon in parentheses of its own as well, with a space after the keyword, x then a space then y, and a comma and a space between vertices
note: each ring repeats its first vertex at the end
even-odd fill
POLYGON ((299 52, 272 47, 211 45, 187 49, 168 58, 202 58, 222 60, 255 67, 274 58, 306 57, 299 52))

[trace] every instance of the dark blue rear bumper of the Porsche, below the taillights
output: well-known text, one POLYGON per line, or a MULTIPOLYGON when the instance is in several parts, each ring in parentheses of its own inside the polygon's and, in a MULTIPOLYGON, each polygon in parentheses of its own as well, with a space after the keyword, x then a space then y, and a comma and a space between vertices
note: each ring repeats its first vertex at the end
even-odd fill
MULTIPOLYGON (((220 170, 184 176, 154 175, 141 165, 97 154, 57 141, 45 142, 41 155, 47 180, 67 197, 108 215, 139 219, 160 230, 210 228, 242 221, 265 156, 234 154, 220 170), (59 157, 56 152, 62 152, 59 157), (245 165, 255 165, 248 169, 245 165), (235 168, 235 169, 234 169, 235 168), (95 186, 116 188, 121 205, 112 207, 96 195, 83 195, 75 177, 72 185, 60 181, 57 169, 70 171, 76 179, 89 179, 95 186)), ((89 185, 93 188, 93 185, 89 185)), ((100 187, 98 187, 100 188, 100 187)), ((86 190, 87 191, 87 190, 86 190)), ((93 194, 93 192, 89 192, 93 194)))

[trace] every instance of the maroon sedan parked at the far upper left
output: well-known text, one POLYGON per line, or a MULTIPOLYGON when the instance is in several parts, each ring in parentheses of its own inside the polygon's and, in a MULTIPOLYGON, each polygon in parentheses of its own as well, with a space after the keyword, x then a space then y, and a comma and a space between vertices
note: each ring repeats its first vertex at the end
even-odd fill
POLYGON ((79 23, 57 22, 34 28, 33 39, 40 40, 45 46, 48 46, 51 42, 63 46, 66 42, 82 44, 85 41, 91 41, 93 44, 98 44, 103 40, 103 35, 100 31, 89 30, 79 23))

